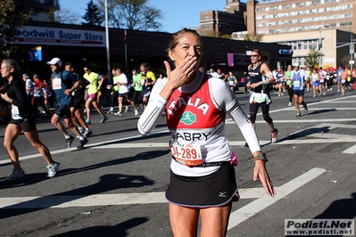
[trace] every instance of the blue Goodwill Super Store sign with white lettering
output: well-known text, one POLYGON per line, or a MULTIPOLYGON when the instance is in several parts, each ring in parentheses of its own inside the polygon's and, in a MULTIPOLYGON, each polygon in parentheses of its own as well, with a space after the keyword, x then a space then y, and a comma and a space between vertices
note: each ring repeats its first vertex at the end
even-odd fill
POLYGON ((69 45, 105 47, 105 32, 25 26, 10 40, 21 45, 69 45))

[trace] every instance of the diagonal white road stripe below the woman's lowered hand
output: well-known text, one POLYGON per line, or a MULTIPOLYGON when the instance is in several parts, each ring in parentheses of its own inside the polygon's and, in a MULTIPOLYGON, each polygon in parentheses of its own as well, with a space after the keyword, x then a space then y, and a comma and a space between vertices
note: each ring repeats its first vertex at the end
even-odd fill
POLYGON ((312 168, 302 176, 298 176, 294 178, 294 180, 291 180, 279 188, 276 188, 277 195, 274 198, 271 198, 268 195, 264 195, 260 199, 253 200, 253 202, 237 209, 231 213, 230 220, 228 222, 228 230, 234 228, 236 225, 239 225, 249 217, 253 217, 253 215, 257 214, 262 209, 268 208, 270 205, 277 202, 277 200, 285 198, 289 193, 294 192, 296 189, 302 187, 302 185, 307 184, 326 171, 327 170, 324 168, 312 168))

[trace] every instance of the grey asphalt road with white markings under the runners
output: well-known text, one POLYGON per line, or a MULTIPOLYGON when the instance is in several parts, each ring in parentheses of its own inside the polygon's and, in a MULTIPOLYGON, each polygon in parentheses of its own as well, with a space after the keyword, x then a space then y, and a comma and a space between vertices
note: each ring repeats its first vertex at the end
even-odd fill
MULTIPOLYGON (((248 112, 248 94, 236 95, 248 112)), ((241 194, 228 236, 285 236, 286 219, 355 219, 356 92, 340 97, 334 90, 316 98, 306 93, 309 111, 300 118, 287 106, 286 94, 272 99, 278 142, 269 143, 261 110, 257 133, 269 157, 275 198, 253 182, 251 151, 227 119, 241 194)), ((140 135, 137 119, 130 110, 100 124, 93 110, 94 135, 80 151, 75 149, 79 140, 64 150, 62 134, 49 119, 38 119, 42 142, 62 164, 51 179, 44 159, 21 135, 15 145, 27 176, 6 182, 12 165, 0 147, 0 236, 172 236, 164 199, 170 174, 167 127, 162 118, 152 135, 140 135)))

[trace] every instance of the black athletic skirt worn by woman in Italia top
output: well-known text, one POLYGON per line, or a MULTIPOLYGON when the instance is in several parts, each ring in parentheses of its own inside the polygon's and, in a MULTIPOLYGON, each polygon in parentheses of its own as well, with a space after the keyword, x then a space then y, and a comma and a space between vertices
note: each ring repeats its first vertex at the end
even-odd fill
POLYGON ((178 176, 170 170, 166 199, 189 208, 220 207, 239 199, 234 166, 227 164, 209 176, 178 176))

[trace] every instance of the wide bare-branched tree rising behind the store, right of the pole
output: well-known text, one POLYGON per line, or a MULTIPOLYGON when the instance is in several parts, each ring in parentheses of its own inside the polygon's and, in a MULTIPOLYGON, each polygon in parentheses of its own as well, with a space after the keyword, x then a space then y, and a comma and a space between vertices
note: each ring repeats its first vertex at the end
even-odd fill
MULTIPOLYGON (((109 25, 118 29, 160 29, 162 13, 147 0, 112 0, 108 3, 109 25)), ((99 0, 104 7, 103 0, 99 0)), ((104 10, 103 10, 104 12, 104 10)))

